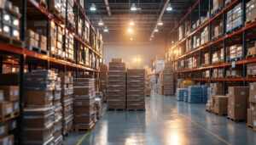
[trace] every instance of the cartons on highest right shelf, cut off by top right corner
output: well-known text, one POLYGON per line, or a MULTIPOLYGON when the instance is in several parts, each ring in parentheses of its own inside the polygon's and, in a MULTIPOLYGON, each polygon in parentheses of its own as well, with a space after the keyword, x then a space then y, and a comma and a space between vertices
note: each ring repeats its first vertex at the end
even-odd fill
POLYGON ((256 13, 256 7, 255 7, 255 1, 253 0, 250 0, 249 2, 247 2, 247 5, 246 5, 246 24, 249 25, 251 23, 253 23, 255 20, 255 13, 256 13))

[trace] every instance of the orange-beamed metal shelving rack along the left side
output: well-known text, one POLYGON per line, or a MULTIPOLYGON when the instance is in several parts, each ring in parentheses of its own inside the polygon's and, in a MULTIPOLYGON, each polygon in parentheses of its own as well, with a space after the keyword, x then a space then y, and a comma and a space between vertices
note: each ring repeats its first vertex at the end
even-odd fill
MULTIPOLYGON (((46 1, 49 5, 50 0, 46 1)), ((47 29, 48 29, 48 34, 47 37, 49 38, 49 20, 53 20, 55 24, 61 25, 62 28, 66 29, 70 33, 73 34, 74 37, 74 42, 80 42, 82 43, 85 47, 89 48, 90 53, 95 53, 96 57, 98 58, 98 61, 103 58, 102 53, 96 51, 96 48, 91 47, 88 42, 84 42, 78 35, 76 31, 70 30, 67 25, 64 25, 61 23, 60 20, 58 20, 53 14, 49 12, 49 9, 44 8, 38 1, 36 0, 22 0, 20 1, 21 3, 21 19, 20 19, 20 40, 25 42, 25 33, 26 33, 26 20, 27 20, 27 8, 28 5, 29 7, 33 7, 34 9, 37 10, 37 14, 39 13, 40 15, 44 15, 46 20, 48 21, 47 24, 47 29)), ((84 9, 79 6, 79 3, 77 0, 74 0, 74 7, 77 8, 77 14, 81 14, 84 17, 84 20, 87 20, 89 23, 90 21, 85 15, 84 9)), ((44 18, 42 18, 44 19, 44 18)), ((78 24, 76 23, 76 27, 78 27, 78 24)), ((96 34, 95 29, 91 26, 92 30, 96 34)), ((99 40, 100 37, 96 35, 99 40)), ((48 39, 49 40, 49 39, 48 39)), ((102 43, 102 41, 101 41, 102 43)), ((65 42, 64 42, 65 45, 65 42)), ((49 50, 49 41, 47 42, 47 48, 49 50)), ((78 50, 78 46, 74 47, 74 50, 78 50)), ((37 53, 31 50, 28 50, 23 47, 15 47, 13 45, 7 44, 0 42, 0 74, 3 74, 3 64, 14 66, 20 68, 20 117, 19 117, 19 135, 18 135, 18 144, 24 144, 24 91, 25 91, 25 81, 24 81, 24 71, 25 69, 32 70, 32 69, 37 69, 38 66, 43 69, 57 69, 62 72, 66 71, 73 71, 75 76, 77 77, 79 74, 84 75, 85 72, 89 72, 90 75, 95 75, 98 76, 98 73, 100 70, 90 68, 78 63, 72 63, 68 62, 66 60, 62 59, 56 59, 51 57, 50 55, 44 55, 42 53, 37 53), (19 59, 19 61, 9 61, 9 60, 3 60, 3 56, 11 56, 14 57, 15 59, 19 59)), ((2 122, 4 120, 0 120, 2 122)))

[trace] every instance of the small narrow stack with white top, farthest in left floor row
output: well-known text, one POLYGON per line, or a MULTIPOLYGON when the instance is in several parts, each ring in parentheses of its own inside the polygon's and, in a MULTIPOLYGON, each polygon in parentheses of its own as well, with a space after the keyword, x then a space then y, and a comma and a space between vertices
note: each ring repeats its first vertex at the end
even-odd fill
POLYGON ((95 96, 96 96, 95 98, 96 117, 97 117, 97 120, 100 120, 100 118, 102 118, 103 93, 96 92, 95 96))

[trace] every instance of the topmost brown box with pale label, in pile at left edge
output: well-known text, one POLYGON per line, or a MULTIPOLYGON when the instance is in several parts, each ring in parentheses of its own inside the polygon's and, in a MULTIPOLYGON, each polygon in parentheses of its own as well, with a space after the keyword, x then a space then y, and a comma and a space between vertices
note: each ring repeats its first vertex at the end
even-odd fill
POLYGON ((6 101, 18 101, 19 100, 19 86, 0 86, 0 90, 3 90, 3 98, 6 101))

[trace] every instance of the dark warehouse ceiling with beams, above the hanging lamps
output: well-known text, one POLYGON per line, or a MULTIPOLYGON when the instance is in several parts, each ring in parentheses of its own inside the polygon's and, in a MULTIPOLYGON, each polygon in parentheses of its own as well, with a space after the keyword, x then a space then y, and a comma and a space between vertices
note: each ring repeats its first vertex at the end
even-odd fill
MULTIPOLYGON (((160 17, 162 9, 167 0, 85 0, 85 14, 92 25, 103 30, 104 26, 97 25, 102 19, 104 25, 111 31, 126 31, 129 22, 132 20, 136 31, 147 31, 148 38, 154 31, 154 27, 160 17), (106 2, 108 5, 106 5, 106 2), (96 11, 90 11, 91 3, 95 3, 96 11), (140 8, 136 12, 131 12, 132 3, 140 8), (107 10, 109 6, 110 10, 107 10)), ((177 24, 196 0, 170 0, 172 11, 164 11, 161 21, 164 25, 158 26, 159 33, 168 33, 177 24)))

